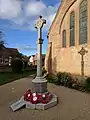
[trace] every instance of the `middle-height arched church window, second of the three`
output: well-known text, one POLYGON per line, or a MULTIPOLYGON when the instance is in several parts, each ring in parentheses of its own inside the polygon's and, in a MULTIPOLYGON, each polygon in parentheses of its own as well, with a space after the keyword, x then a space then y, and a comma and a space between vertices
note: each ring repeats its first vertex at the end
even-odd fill
POLYGON ((75 12, 70 14, 70 46, 75 45, 75 12))

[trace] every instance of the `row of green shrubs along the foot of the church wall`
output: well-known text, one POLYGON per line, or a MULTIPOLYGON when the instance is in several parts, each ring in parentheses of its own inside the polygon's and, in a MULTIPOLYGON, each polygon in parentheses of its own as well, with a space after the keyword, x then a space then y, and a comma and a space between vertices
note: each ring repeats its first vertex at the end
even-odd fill
POLYGON ((46 79, 48 82, 56 85, 64 85, 82 92, 90 92, 90 77, 83 78, 82 76, 72 75, 66 72, 58 72, 56 75, 48 74, 46 79), (83 83, 82 80, 84 80, 85 83, 83 83))

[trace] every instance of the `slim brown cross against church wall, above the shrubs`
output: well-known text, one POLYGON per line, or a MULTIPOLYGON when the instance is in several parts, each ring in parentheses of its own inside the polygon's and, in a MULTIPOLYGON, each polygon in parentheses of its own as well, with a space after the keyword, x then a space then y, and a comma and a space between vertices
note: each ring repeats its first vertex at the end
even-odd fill
POLYGON ((81 48, 81 50, 78 52, 81 55, 81 75, 84 76, 84 55, 88 51, 84 49, 84 47, 81 48))

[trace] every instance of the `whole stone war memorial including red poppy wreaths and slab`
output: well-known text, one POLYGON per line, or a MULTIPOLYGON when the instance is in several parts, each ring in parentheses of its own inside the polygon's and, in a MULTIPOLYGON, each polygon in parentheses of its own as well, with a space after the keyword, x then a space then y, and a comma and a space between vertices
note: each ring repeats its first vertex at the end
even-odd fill
POLYGON ((57 96, 48 91, 47 80, 42 75, 42 27, 44 24, 46 24, 46 20, 42 19, 42 16, 39 16, 37 24, 35 24, 35 28, 38 31, 37 76, 32 80, 32 90, 28 90, 19 101, 10 106, 13 111, 23 106, 30 109, 45 110, 57 105, 57 96))

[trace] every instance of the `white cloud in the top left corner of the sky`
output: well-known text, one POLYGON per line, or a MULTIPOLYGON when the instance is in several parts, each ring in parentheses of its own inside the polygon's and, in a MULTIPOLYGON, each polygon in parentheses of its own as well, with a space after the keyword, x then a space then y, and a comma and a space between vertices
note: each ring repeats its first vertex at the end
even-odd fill
POLYGON ((0 0, 0 18, 12 19, 21 13, 21 4, 17 0, 0 0))

